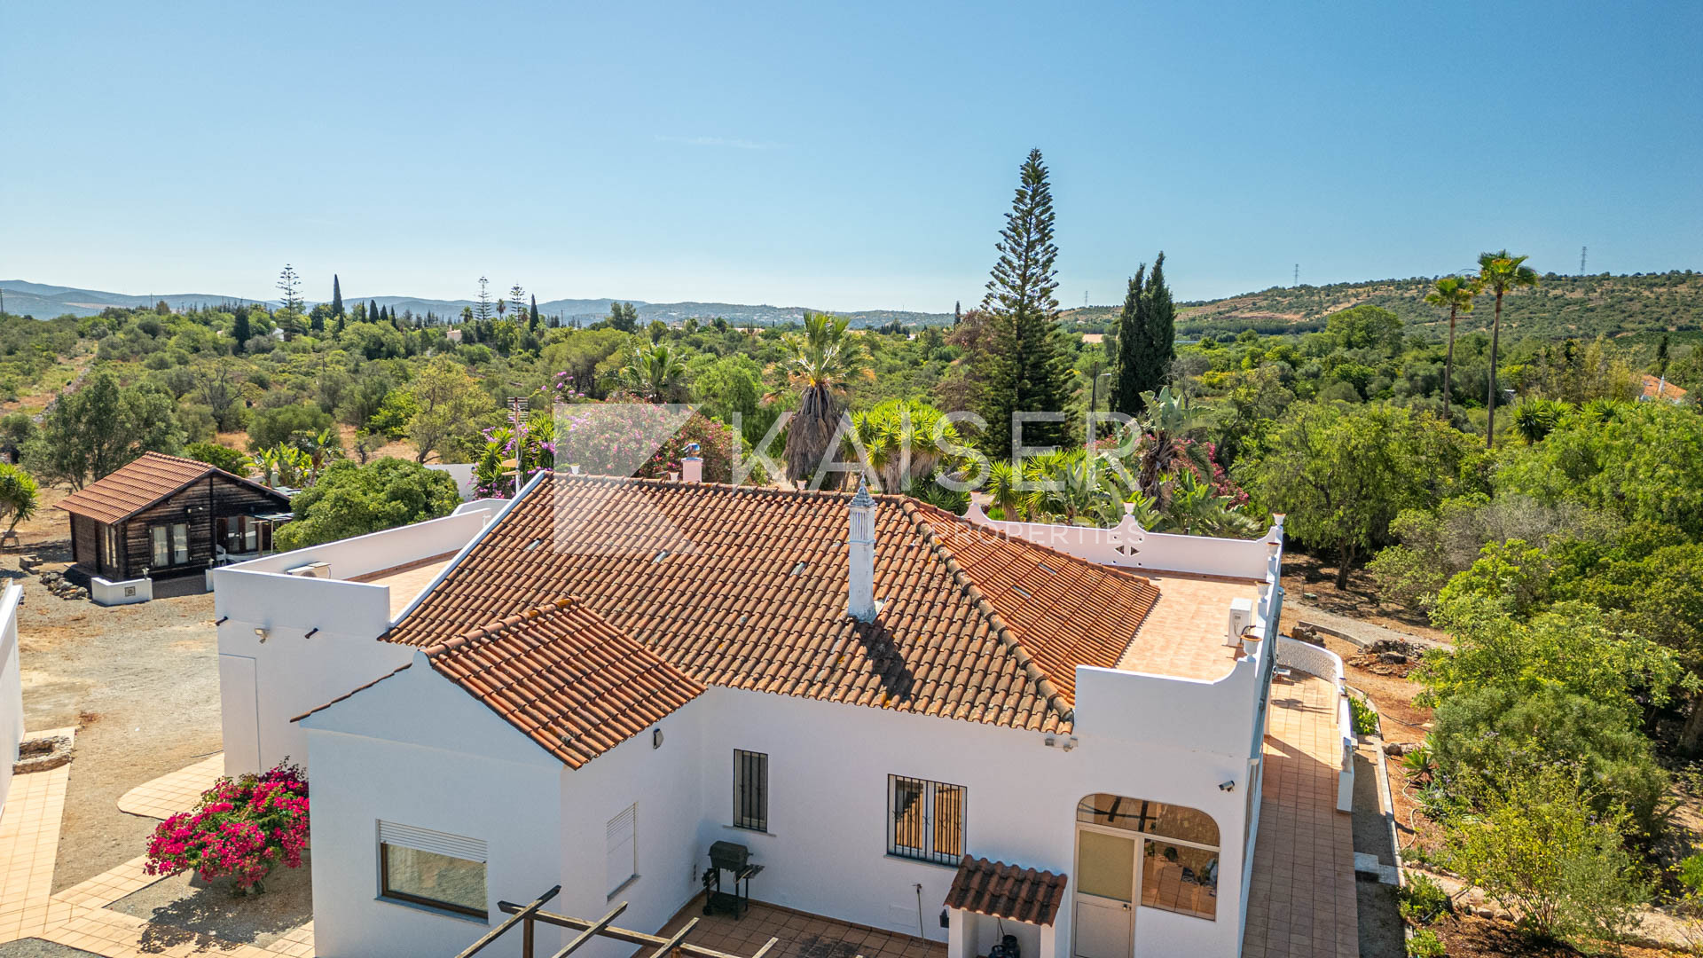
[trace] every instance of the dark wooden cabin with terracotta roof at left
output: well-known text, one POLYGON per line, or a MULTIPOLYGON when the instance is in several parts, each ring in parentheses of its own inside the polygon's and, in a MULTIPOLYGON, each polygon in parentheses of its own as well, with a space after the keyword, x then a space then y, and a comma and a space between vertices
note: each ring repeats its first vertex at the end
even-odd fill
POLYGON ((223 469, 158 452, 60 499, 72 561, 107 581, 199 574, 272 547, 290 496, 223 469))

